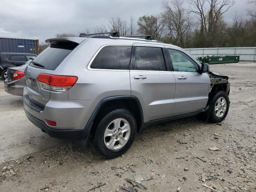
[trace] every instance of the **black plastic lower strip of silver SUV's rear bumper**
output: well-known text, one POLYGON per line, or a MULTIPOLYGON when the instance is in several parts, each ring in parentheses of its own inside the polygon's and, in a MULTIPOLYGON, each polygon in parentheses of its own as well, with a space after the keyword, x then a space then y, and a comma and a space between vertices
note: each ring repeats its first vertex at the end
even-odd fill
POLYGON ((78 140, 80 139, 84 130, 56 130, 50 128, 45 122, 39 120, 38 118, 32 116, 26 109, 24 109, 27 118, 38 128, 46 132, 49 136, 59 139, 70 139, 78 140))

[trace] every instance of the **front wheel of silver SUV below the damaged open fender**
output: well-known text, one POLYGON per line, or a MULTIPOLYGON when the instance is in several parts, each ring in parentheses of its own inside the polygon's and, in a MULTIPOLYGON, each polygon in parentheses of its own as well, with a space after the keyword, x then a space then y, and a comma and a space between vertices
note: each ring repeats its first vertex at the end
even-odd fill
POLYGON ((216 92, 210 103, 209 121, 218 123, 224 120, 229 110, 228 94, 224 91, 216 92))

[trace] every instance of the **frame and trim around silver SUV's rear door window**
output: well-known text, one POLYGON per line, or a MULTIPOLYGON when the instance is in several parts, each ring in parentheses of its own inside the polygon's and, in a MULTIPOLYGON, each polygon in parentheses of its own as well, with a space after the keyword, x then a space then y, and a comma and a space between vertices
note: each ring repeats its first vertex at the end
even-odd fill
POLYGON ((168 59, 168 54, 165 54, 165 48, 162 45, 154 45, 154 44, 134 44, 133 47, 153 47, 153 48, 161 48, 163 58, 164 58, 164 64, 165 64, 165 71, 159 71, 159 70, 136 70, 134 69, 134 64, 135 64, 135 48, 132 48, 132 58, 130 61, 130 70, 131 71, 139 71, 139 72, 170 72, 170 67, 169 65, 169 59, 168 59), (167 55, 167 56, 166 56, 167 55), (168 63, 168 65, 167 65, 168 63))

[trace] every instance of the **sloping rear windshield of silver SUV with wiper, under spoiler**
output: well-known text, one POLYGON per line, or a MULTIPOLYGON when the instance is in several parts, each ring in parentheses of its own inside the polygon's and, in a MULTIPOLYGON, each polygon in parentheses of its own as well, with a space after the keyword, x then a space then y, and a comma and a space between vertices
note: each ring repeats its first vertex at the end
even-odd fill
MULTIPOLYGON (((77 46, 78 44, 76 44, 77 46)), ((76 46, 51 45, 40 53, 31 63, 30 66, 55 70, 59 64, 72 52, 76 46)))

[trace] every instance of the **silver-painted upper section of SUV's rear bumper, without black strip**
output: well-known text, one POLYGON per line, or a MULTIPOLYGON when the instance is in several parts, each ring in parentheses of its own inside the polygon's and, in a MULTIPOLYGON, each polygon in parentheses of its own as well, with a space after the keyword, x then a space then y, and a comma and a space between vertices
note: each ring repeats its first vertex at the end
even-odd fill
POLYGON ((44 123, 46 120, 55 121, 56 126, 49 126, 55 130, 84 130, 96 104, 95 101, 68 100, 63 94, 58 94, 51 96, 42 107, 29 99, 26 87, 23 91, 24 109, 44 123))

